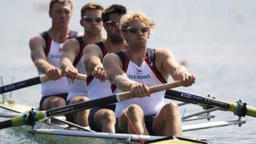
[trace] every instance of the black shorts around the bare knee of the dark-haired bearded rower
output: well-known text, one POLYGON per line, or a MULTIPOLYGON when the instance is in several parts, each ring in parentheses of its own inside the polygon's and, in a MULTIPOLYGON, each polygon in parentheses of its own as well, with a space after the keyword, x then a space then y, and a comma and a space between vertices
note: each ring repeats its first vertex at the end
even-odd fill
POLYGON ((88 116, 88 122, 90 125, 90 129, 92 129, 93 131, 97 131, 97 132, 101 132, 99 130, 99 128, 97 127, 97 125, 95 124, 94 120, 93 120, 93 116, 95 115, 95 113, 97 113, 97 111, 99 111, 100 109, 111 109, 112 111, 115 112, 116 109, 116 105, 115 104, 109 104, 107 106, 101 106, 101 107, 97 107, 97 108, 92 108, 90 110, 90 114, 88 116))

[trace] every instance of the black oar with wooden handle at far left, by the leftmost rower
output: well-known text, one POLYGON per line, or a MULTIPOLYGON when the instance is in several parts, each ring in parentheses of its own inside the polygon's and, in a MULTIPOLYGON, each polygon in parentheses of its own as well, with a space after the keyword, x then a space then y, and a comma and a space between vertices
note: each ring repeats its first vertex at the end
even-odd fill
MULTIPOLYGON (((77 74, 76 79, 86 80, 86 75, 77 74)), ((24 81, 19 81, 17 83, 8 84, 6 86, 1 86, 0 94, 6 93, 6 92, 11 92, 13 90, 19 90, 20 88, 26 88, 28 86, 33 86, 33 85, 40 84, 40 83, 45 83, 47 81, 49 81, 49 78, 45 75, 34 77, 31 79, 26 79, 24 81)))

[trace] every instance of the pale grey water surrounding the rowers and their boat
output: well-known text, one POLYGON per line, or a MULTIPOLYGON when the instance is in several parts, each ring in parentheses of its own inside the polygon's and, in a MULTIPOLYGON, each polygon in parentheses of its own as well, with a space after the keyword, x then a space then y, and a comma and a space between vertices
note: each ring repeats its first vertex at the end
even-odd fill
MULTIPOLYGON (((88 1, 74 1, 70 28, 79 26, 79 12, 88 1)), ((156 23, 148 47, 168 48, 178 61, 188 61, 196 76, 191 88, 179 88, 200 95, 234 102, 242 99, 256 106, 256 1, 97 1, 103 6, 124 4, 132 12, 140 10, 156 23)), ((29 38, 51 26, 48 3, 44 0, 1 0, 0 75, 4 83, 37 76, 29 56, 29 38)), ((105 33, 105 32, 104 32, 105 33)), ((40 86, 12 93, 22 104, 37 106, 40 86)), ((189 111, 198 111, 190 108, 189 111)), ((183 110, 180 109, 181 111, 183 110)), ((218 111, 215 120, 235 120, 230 112, 218 111)), ((205 122, 205 120, 200 121, 205 122)), ((184 135, 207 138, 211 143, 256 143, 255 118, 246 116, 246 124, 184 132, 184 135)), ((1 131, 2 143, 40 143, 15 133, 1 131), (21 141, 20 141, 21 140, 21 141), (19 141, 19 142, 18 142, 19 141)))

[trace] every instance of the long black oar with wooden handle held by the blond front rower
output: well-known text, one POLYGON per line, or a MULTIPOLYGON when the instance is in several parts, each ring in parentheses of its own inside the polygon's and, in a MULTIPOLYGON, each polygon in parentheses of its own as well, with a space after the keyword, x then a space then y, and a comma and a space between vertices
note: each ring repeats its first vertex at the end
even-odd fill
MULTIPOLYGON (((149 88, 149 91, 150 93, 154 93, 162 90, 168 90, 170 88, 176 88, 178 86, 183 86, 183 81, 175 81, 174 83, 166 83, 157 86, 152 86, 149 88)), ((68 106, 63 106, 61 108, 49 109, 46 111, 35 111, 34 109, 32 109, 31 111, 24 113, 22 116, 17 116, 10 120, 0 122, 0 129, 8 127, 17 127, 20 125, 34 125, 35 122, 42 122, 43 120, 54 116, 64 115, 67 113, 74 113, 76 111, 81 111, 83 109, 95 108, 107 104, 113 104, 116 102, 122 102, 124 100, 132 98, 134 98, 132 92, 124 92, 116 93, 115 95, 110 95, 108 97, 102 97, 100 99, 70 104, 68 106)))

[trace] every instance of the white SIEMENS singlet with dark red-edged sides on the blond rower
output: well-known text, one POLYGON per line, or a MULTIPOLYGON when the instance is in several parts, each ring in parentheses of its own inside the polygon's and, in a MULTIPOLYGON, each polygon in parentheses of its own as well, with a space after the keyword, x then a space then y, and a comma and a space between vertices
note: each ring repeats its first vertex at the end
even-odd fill
MULTIPOLYGON (((115 54, 122 60, 123 70, 129 79, 138 83, 147 84, 148 87, 166 83, 166 80, 155 67, 155 49, 147 48, 145 60, 141 63, 140 67, 129 60, 124 52, 120 51, 115 54)), ((122 92, 122 90, 116 88, 115 85, 112 85, 112 90, 113 93, 122 92)), ((133 98, 118 102, 116 103, 115 115, 119 116, 123 109, 126 109, 130 104, 137 104, 140 106, 143 109, 144 116, 156 115, 164 106, 164 93, 165 91, 161 91, 151 93, 150 97, 133 98)))

